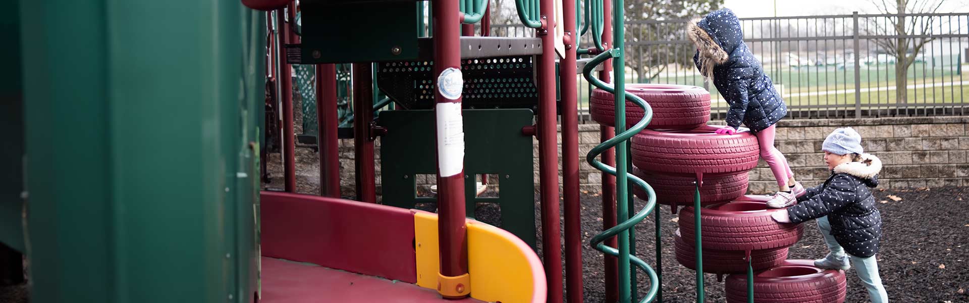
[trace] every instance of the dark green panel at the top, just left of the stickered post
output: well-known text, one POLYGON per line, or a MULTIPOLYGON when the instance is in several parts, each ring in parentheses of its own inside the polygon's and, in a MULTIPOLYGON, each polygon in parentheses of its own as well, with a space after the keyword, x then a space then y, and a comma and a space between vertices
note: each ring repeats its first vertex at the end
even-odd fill
POLYGON ((349 63, 418 57, 414 2, 302 5, 300 62, 349 63))

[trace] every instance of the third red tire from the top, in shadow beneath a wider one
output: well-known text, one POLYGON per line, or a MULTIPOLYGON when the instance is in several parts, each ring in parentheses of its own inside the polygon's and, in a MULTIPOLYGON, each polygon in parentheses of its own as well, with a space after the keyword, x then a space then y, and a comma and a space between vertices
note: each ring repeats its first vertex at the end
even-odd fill
MULTIPOLYGON (((656 202, 672 206, 693 206, 693 195, 696 186, 695 177, 677 175, 663 175, 649 173, 633 167, 633 175, 640 177, 656 191, 656 202)), ((712 205, 729 202, 747 192, 749 179, 747 172, 725 175, 703 176, 703 186, 700 187, 702 205, 712 205)), ((633 186, 633 193, 640 199, 646 200, 646 191, 633 186)))

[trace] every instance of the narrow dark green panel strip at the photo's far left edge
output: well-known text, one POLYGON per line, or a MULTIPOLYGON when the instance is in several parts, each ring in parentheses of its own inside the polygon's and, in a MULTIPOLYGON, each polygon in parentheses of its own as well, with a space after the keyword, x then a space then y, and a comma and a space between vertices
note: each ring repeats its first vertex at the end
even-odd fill
POLYGON ((19 73, 20 11, 16 1, 13 4, 0 18, 0 28, 6 29, 0 31, 0 41, 8 43, 0 48, 0 57, 5 58, 0 70, 9 71, 0 74, 0 129, 4 130, 0 139, 0 243, 22 253, 23 81, 19 73))

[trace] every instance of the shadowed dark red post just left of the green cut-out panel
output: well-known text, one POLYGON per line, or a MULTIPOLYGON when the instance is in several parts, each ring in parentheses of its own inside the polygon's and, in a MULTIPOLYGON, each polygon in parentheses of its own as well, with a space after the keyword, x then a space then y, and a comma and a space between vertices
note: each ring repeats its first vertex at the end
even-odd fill
POLYGON ((373 120, 373 70, 369 62, 354 63, 354 167, 357 169, 357 200, 377 203, 374 184, 373 141, 370 140, 370 121, 373 120))

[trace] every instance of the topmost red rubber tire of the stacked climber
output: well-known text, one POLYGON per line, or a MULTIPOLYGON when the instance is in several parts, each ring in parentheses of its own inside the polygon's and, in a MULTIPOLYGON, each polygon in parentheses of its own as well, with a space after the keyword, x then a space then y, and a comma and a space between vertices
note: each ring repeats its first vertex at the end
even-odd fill
MULTIPOLYGON (((626 84, 628 93, 640 96, 653 109, 649 128, 690 129, 710 120, 710 92, 700 86, 677 84, 626 84)), ((615 126, 615 97, 609 91, 592 90, 589 113, 603 125, 615 126)), ((626 101, 626 124, 642 119, 642 108, 626 101)))

